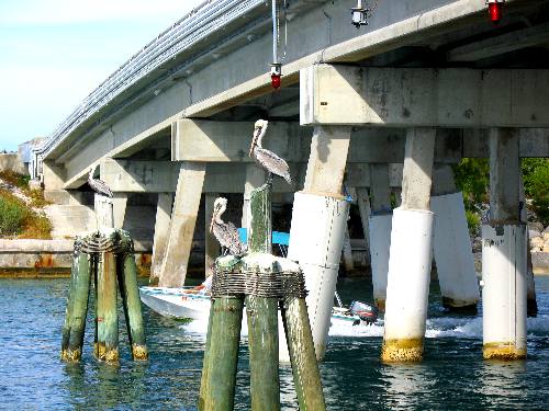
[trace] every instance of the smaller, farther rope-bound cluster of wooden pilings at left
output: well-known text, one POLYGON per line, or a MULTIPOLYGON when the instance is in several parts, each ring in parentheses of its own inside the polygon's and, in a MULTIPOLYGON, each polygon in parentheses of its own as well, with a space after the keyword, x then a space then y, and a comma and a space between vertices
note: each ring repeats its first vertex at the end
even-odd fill
POLYGON ((119 286, 133 358, 147 359, 133 240, 121 229, 94 231, 77 237, 75 241, 61 359, 78 362, 81 358, 92 281, 96 293, 93 351, 97 358, 109 363, 119 361, 119 286))

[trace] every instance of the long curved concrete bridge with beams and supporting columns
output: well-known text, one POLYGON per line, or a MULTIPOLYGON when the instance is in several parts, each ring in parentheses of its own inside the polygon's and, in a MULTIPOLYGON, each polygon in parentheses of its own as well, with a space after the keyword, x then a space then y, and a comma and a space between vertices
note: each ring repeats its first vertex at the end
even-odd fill
MULTIPOLYGON (((309 301, 317 355, 346 231, 345 185, 371 244, 374 297, 386 309, 383 358, 392 361, 423 352, 433 247, 445 304, 479 299, 449 165, 490 158, 484 354, 520 357, 519 158, 549 157, 549 2, 507 0, 494 24, 484 0, 379 0, 359 30, 356 5, 279 2, 282 81, 273 90, 270 2, 203 3, 96 89, 35 152, 34 172, 47 198, 87 204, 87 174, 99 163, 121 227, 132 204, 154 204, 156 217, 139 217, 154 230, 153 272, 179 286, 201 197, 209 216, 219 193, 242 198, 262 183, 247 150, 254 122, 269 119, 266 147, 295 176, 292 186, 276 182, 276 202, 293 202, 290 256, 317 299, 309 301), (393 213, 391 187, 402 187, 393 213)), ((205 243, 208 270, 217 250, 208 235, 205 243)))

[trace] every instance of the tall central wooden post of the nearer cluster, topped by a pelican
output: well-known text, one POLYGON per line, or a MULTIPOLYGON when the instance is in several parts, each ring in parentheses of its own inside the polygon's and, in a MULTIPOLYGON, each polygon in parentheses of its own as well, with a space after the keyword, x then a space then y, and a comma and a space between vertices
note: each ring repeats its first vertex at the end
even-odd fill
MULTIPOLYGON (((248 250, 249 253, 270 254, 271 244, 271 184, 268 183, 250 193, 248 250)), ((246 296, 246 316, 251 410, 280 410, 278 299, 246 296)))

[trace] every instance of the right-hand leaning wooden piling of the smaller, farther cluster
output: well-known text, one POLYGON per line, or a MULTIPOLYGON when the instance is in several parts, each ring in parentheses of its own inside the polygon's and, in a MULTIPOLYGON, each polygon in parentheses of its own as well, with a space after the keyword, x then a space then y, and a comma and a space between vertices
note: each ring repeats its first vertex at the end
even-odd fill
POLYGON ((148 352, 145 343, 145 327, 141 310, 133 241, 127 232, 122 230, 119 232, 122 236, 125 252, 119 255, 116 274, 126 319, 127 336, 132 347, 132 357, 136 361, 145 361, 148 358, 148 352))

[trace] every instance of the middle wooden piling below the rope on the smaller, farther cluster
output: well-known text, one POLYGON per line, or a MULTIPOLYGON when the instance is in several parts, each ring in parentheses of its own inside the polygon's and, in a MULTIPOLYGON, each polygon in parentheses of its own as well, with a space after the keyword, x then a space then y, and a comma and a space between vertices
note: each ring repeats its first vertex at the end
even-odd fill
POLYGON ((101 252, 98 261, 97 356, 108 363, 119 361, 119 317, 116 312, 116 260, 101 252))

